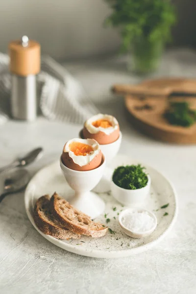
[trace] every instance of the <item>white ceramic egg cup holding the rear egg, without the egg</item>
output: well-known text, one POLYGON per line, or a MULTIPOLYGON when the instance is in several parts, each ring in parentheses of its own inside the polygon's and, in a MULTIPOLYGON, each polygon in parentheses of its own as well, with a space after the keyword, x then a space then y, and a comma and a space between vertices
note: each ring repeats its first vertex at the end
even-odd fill
MULTIPOLYGON (((82 130, 79 132, 79 137, 83 139, 82 130)), ((102 153, 106 158, 107 165, 114 159, 114 157, 119 152, 122 142, 122 132, 120 131, 119 138, 110 144, 99 144, 102 153)), ((98 183, 98 185, 93 189, 96 193, 105 193, 110 191, 110 180, 112 176, 113 170, 106 167, 105 171, 98 183)))

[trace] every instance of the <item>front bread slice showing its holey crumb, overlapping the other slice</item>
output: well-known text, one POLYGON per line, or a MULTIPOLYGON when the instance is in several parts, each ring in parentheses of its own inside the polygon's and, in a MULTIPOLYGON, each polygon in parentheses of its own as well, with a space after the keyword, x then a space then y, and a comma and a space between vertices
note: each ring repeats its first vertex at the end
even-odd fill
POLYGON ((100 222, 92 221, 89 216, 75 209, 57 193, 54 193, 51 197, 50 204, 55 219, 75 234, 98 238, 104 236, 108 230, 100 222))

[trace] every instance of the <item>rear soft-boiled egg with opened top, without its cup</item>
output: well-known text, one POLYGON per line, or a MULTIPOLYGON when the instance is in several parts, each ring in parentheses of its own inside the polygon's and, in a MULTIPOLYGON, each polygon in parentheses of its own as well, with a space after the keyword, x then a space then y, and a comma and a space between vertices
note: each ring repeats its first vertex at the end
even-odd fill
POLYGON ((108 114, 97 114, 84 123, 83 137, 105 145, 115 142, 120 135, 119 123, 108 114))

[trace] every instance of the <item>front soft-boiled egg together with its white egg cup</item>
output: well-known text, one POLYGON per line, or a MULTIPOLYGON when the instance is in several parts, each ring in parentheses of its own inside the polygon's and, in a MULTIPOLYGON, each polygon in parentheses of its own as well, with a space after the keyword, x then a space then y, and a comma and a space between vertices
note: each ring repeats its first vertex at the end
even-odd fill
POLYGON ((92 219, 104 212, 105 203, 90 192, 100 181, 105 157, 94 139, 75 138, 68 141, 60 157, 60 167, 75 194, 69 202, 92 219))

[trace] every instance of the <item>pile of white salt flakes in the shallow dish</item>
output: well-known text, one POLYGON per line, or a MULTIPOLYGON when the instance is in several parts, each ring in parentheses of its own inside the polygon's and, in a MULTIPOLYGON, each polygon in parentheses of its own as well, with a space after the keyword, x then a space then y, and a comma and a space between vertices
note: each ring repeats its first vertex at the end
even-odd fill
POLYGON ((149 231, 155 225, 155 220, 147 213, 147 211, 133 211, 127 213, 123 217, 122 223, 132 232, 144 233, 149 231))

